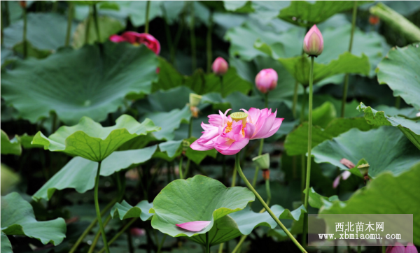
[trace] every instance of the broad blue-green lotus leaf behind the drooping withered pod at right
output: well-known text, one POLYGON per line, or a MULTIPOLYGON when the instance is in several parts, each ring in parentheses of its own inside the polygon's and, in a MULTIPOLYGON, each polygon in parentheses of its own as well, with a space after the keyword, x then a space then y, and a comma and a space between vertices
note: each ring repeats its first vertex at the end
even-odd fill
POLYGON ((398 175, 420 161, 418 150, 404 134, 394 127, 380 127, 370 131, 350 129, 337 138, 326 140, 312 149, 316 163, 327 162, 348 170, 339 161, 343 158, 358 164, 365 159, 370 165, 369 175, 391 171, 398 175))

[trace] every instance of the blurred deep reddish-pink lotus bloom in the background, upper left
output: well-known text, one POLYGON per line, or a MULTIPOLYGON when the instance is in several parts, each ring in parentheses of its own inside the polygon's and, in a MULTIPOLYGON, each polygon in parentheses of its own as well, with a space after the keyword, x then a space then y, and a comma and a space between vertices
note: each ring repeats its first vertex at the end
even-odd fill
POLYGON ((124 34, 121 34, 121 36, 117 34, 111 35, 109 40, 115 43, 127 41, 133 45, 144 44, 155 52, 156 55, 159 55, 160 52, 160 43, 155 37, 151 36, 151 34, 139 34, 135 31, 126 31, 124 34))

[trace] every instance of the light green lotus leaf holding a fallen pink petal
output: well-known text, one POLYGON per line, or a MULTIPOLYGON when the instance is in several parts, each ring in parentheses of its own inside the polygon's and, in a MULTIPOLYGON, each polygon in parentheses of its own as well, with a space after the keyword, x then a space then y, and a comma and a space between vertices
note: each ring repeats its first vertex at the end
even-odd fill
POLYGON ((196 236, 210 231, 218 219, 246 207, 254 201, 252 191, 244 187, 227 188, 218 180, 195 175, 187 180, 175 180, 167 185, 153 201, 150 212, 153 229, 169 236, 196 236), (180 229, 175 224, 211 221, 199 232, 180 229))

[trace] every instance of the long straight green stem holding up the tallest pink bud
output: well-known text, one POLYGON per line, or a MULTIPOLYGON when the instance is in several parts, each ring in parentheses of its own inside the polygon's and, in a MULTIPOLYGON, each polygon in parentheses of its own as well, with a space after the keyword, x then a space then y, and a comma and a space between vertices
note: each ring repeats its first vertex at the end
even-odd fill
MULTIPOLYGON (((314 56, 311 56, 311 68, 309 69, 309 117, 308 117, 308 157, 307 157, 307 172, 306 172, 306 194, 304 196, 304 209, 308 210, 309 200, 309 182, 311 181, 311 150, 312 150, 312 96, 314 86, 314 56)), ((303 222, 303 245, 306 245, 306 229, 307 215, 303 222)))

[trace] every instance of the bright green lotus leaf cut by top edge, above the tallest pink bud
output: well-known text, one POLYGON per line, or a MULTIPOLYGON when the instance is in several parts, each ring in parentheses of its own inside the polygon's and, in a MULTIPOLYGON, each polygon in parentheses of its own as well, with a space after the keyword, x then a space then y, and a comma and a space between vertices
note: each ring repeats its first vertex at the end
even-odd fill
MULTIPOLYGON (((358 1, 358 6, 368 1, 358 1)), ((311 27, 313 24, 327 20, 335 13, 350 10, 353 1, 290 1, 290 6, 280 10, 279 17, 292 24, 311 27)))

